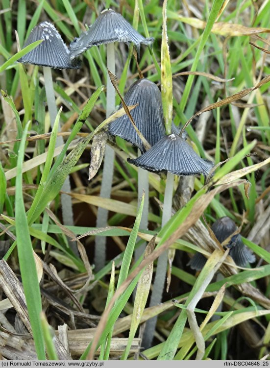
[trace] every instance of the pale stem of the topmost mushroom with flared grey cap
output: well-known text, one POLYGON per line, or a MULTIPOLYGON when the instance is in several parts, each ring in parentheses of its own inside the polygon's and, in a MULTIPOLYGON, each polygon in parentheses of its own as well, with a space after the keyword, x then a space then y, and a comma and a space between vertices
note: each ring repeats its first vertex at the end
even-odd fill
MULTIPOLYGON (((107 68, 112 74, 115 74, 115 52, 114 44, 107 45, 107 68)), ((115 109, 115 89, 107 73, 107 96, 106 96, 106 117, 115 109)), ((106 145, 103 163, 103 176, 101 182, 100 196, 110 198, 113 182, 114 169, 114 150, 106 145)), ((96 227, 107 226, 108 210, 98 207, 96 227)), ((98 271, 105 266, 106 260, 106 237, 97 236, 95 239, 95 269, 98 271)))

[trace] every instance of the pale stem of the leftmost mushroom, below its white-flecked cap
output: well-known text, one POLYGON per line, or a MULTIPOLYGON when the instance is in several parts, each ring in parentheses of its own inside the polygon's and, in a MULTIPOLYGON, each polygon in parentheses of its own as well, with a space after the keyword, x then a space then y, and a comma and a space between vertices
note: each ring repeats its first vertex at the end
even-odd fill
MULTIPOLYGON (((55 103, 54 97, 54 89, 51 77, 51 69, 49 67, 43 67, 43 75, 45 80, 45 91, 47 97, 47 104, 49 109, 49 119, 50 126, 53 127, 56 115, 57 115, 57 107, 55 103)), ((60 124, 58 126, 58 131, 60 131, 60 124)), ((56 147, 59 147, 64 144, 64 140, 62 136, 58 136, 56 139, 56 147)), ((64 184, 62 186, 62 191, 70 193, 71 192, 71 184, 70 177, 67 176, 64 184)), ((74 225, 73 221, 73 209, 72 209, 72 200, 71 197, 66 194, 61 194, 61 206, 62 206, 62 218, 64 225, 74 225)), ((74 242, 70 242, 70 246, 73 252, 78 255, 78 250, 74 242)))

